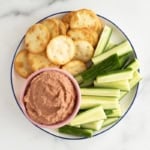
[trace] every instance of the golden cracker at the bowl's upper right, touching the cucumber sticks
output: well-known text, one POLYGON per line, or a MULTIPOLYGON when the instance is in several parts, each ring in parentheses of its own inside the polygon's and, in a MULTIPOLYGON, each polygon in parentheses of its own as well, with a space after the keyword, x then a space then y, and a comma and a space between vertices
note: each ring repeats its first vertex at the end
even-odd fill
POLYGON ((80 60, 71 60, 67 64, 65 64, 62 69, 68 71, 73 76, 83 72, 86 70, 86 65, 80 60))

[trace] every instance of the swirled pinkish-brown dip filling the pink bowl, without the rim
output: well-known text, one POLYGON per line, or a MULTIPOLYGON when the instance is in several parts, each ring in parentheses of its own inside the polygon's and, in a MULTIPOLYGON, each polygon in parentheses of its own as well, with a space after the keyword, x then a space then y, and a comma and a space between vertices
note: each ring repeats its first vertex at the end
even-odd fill
POLYGON ((42 72, 31 80, 23 102, 33 121, 52 125, 64 121, 73 112, 76 90, 65 74, 42 72))

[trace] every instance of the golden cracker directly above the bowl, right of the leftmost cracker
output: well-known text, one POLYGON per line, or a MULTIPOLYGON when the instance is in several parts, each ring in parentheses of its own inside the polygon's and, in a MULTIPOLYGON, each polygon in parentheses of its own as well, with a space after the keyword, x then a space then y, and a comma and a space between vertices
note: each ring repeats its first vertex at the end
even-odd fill
POLYGON ((47 67, 59 67, 50 62, 45 52, 40 54, 28 53, 28 62, 33 71, 47 67))

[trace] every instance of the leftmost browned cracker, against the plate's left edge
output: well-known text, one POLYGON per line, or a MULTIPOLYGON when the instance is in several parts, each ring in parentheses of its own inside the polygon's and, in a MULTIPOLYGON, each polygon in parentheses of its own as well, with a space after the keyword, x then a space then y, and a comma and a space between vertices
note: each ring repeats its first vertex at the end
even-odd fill
POLYGON ((32 73, 27 61, 27 55, 27 50, 21 50, 14 60, 15 71, 23 78, 27 78, 32 73))

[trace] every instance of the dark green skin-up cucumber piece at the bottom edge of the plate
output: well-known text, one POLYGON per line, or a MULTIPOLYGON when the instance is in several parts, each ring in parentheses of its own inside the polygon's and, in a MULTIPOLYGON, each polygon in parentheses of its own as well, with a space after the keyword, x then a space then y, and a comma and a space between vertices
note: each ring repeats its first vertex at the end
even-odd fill
POLYGON ((93 135, 93 130, 90 129, 80 129, 72 126, 63 126, 58 129, 60 133, 81 136, 81 137, 91 137, 93 135))

